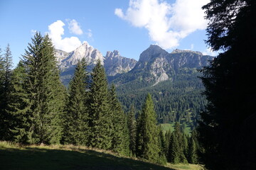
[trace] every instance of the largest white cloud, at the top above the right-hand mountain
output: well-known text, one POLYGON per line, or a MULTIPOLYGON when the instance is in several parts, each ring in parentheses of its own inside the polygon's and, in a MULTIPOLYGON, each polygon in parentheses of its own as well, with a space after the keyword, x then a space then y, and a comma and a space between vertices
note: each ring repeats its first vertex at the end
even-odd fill
POLYGON ((207 26, 201 7, 209 0, 176 0, 174 4, 159 0, 130 0, 123 12, 116 8, 119 18, 132 26, 146 28, 149 37, 164 49, 178 46, 181 39, 207 26))

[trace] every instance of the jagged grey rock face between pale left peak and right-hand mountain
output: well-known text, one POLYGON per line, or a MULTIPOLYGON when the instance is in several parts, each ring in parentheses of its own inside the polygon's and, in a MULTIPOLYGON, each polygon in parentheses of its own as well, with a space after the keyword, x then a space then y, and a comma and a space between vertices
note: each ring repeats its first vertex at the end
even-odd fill
POLYGON ((129 72, 134 68, 136 63, 136 60, 122 57, 117 50, 114 50, 113 52, 107 52, 104 67, 108 76, 114 76, 129 72))

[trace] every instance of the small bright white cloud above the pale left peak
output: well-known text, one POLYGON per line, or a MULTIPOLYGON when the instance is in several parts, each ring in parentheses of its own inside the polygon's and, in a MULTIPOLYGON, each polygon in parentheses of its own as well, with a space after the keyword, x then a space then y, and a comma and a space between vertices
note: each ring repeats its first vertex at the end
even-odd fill
POLYGON ((63 21, 55 21, 54 23, 48 26, 48 35, 50 36, 51 40, 53 41, 53 45, 56 49, 63 50, 65 52, 71 52, 75 50, 82 42, 77 37, 70 37, 70 38, 62 38, 64 35, 64 28, 65 23, 63 21))

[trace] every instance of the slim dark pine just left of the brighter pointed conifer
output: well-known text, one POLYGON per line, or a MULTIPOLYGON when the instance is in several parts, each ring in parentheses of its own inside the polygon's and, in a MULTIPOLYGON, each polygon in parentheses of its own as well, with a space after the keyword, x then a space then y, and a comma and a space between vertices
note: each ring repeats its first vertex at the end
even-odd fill
POLYGON ((129 150, 132 155, 136 152, 136 120, 134 106, 130 108, 127 120, 128 130, 129 130, 129 150))

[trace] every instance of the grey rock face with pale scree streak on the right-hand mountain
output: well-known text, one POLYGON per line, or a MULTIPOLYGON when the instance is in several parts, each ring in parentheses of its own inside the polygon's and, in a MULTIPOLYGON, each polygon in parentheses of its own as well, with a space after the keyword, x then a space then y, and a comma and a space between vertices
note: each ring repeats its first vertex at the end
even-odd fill
MULTIPOLYGON (((150 45, 150 47, 139 57, 139 62, 135 65, 131 72, 148 72, 154 77, 154 85, 161 81, 170 79, 171 74, 179 72, 183 68, 199 69, 208 64, 213 57, 203 55, 201 52, 190 50, 174 50, 168 53, 161 49, 158 45, 150 45)), ((153 80, 153 79, 151 79, 153 80)))

